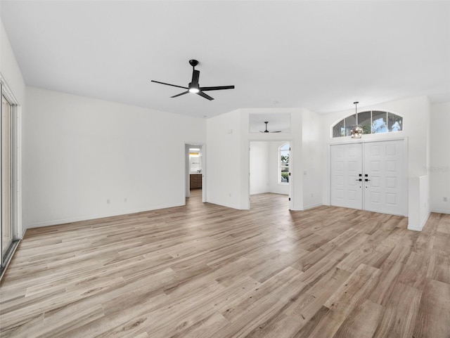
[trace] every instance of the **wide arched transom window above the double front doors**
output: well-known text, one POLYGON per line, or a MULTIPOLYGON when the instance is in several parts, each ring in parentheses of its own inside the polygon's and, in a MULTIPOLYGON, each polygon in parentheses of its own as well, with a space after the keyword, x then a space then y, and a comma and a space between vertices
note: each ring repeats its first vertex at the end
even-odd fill
MULTIPOLYGON (((333 125, 333 137, 351 136, 350 130, 356 124, 356 116, 350 115, 333 125)), ((363 134, 390 133, 403 130, 403 117, 392 112, 368 110, 358 113, 358 124, 363 134)))

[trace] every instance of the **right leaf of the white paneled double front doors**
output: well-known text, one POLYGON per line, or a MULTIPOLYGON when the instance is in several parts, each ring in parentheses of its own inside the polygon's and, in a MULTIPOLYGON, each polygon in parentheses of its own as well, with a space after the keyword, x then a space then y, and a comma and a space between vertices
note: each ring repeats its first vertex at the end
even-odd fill
POLYGON ((364 209, 406 214, 403 140, 364 143, 364 209))

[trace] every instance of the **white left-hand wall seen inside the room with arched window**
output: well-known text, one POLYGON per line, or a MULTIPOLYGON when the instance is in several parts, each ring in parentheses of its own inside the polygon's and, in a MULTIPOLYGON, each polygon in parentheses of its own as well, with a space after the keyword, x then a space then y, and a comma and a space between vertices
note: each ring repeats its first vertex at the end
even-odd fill
POLYGON ((250 195, 269 193, 269 164, 269 143, 250 142, 250 195))

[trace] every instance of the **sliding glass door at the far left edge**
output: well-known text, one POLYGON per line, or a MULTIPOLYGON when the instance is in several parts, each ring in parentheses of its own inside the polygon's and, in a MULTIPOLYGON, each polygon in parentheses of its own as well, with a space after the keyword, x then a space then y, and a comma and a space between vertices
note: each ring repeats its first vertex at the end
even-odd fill
POLYGON ((11 217, 12 201, 12 106, 6 98, 1 96, 1 265, 5 264, 5 257, 13 242, 11 217))

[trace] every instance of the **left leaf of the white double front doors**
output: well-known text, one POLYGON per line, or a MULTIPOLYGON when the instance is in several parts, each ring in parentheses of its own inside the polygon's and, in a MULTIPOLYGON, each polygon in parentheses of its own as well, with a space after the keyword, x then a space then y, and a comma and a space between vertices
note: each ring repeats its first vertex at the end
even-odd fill
POLYGON ((330 146, 331 205, 363 208, 362 144, 330 146))

